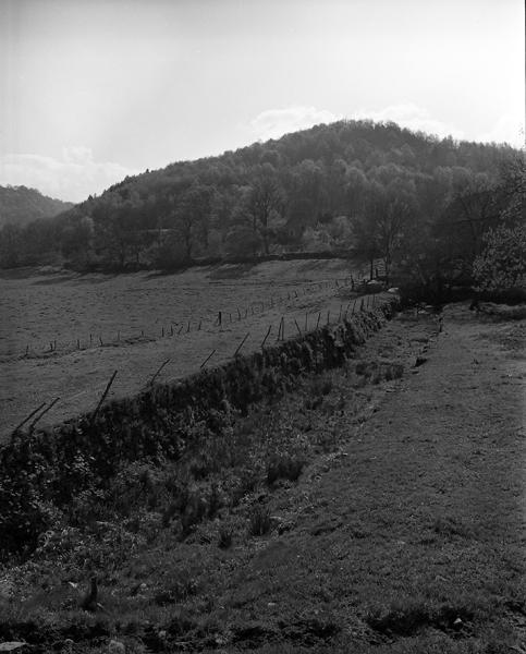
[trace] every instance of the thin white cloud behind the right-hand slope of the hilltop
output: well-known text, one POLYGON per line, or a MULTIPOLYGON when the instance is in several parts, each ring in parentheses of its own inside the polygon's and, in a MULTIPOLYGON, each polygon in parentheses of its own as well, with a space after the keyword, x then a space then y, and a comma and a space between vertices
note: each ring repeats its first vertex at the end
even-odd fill
POLYGON ((462 130, 432 118, 427 109, 418 107, 418 105, 415 105, 414 102, 390 105, 379 111, 360 109, 359 111, 356 111, 352 118, 369 119, 375 122, 393 121, 401 128, 407 128, 414 132, 425 132, 426 134, 436 134, 441 137, 453 136, 458 140, 465 138, 465 134, 462 130))

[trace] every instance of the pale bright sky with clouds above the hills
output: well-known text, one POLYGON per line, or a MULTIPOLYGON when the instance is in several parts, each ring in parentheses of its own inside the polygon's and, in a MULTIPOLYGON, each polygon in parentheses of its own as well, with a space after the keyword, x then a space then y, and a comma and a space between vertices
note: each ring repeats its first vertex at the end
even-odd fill
POLYGON ((524 146, 523 0, 0 0, 0 184, 127 174, 342 118, 524 146))

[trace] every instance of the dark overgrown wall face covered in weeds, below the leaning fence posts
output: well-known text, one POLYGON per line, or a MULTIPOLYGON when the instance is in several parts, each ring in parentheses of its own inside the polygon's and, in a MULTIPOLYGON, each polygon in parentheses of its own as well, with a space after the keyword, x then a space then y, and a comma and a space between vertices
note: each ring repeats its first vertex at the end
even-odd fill
POLYGON ((61 507, 85 489, 105 487, 123 464, 176 460, 199 427, 215 433, 231 411, 246 413, 255 402, 281 397, 299 375, 342 365, 394 308, 394 300, 386 302, 98 412, 13 434, 0 449, 0 553, 32 552, 61 507))

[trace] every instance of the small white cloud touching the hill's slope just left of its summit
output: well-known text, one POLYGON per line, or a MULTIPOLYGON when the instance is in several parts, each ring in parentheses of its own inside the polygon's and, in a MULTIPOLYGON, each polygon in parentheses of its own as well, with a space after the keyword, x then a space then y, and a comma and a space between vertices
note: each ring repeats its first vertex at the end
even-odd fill
POLYGON ((261 141, 279 138, 283 134, 306 130, 319 123, 330 123, 339 118, 326 109, 316 107, 294 106, 284 109, 268 109, 261 111, 249 123, 252 135, 261 141))

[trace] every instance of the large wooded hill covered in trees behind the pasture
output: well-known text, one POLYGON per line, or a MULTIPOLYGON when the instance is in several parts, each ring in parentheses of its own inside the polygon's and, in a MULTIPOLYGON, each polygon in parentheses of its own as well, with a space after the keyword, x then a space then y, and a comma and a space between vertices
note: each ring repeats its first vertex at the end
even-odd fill
POLYGON ((354 251, 388 277, 469 277, 484 235, 523 210, 505 145, 341 121, 126 178, 53 220, 0 232, 0 265, 176 268, 200 257, 354 251))

